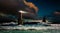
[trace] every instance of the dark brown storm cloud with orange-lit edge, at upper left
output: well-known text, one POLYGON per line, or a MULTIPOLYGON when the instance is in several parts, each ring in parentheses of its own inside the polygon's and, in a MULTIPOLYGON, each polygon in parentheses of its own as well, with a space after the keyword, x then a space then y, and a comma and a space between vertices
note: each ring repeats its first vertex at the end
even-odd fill
MULTIPOLYGON (((38 8, 32 2, 24 2, 24 0, 0 0, 0 12, 17 15, 19 10, 35 14, 38 8)), ((29 17, 33 18, 32 16, 29 14, 29 17)))

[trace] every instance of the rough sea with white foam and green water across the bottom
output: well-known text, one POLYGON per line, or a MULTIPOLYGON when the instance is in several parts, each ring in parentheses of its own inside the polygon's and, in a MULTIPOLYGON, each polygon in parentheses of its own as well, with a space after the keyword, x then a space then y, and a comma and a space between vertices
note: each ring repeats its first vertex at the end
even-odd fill
MULTIPOLYGON (((11 24, 10 24, 11 25, 11 24)), ((60 33, 60 24, 25 24, 0 26, 0 33, 60 33)))

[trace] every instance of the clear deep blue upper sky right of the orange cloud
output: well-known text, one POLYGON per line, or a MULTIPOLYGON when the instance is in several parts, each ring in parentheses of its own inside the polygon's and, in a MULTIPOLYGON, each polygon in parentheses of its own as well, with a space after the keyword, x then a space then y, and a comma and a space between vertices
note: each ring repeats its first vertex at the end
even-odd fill
POLYGON ((55 10, 60 10, 60 0, 28 0, 33 2, 38 8, 39 16, 52 15, 55 10))

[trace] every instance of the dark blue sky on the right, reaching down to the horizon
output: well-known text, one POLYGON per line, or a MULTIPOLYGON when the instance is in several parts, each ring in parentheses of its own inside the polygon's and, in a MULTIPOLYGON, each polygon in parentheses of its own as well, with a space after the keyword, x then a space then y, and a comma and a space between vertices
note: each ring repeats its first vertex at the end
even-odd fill
POLYGON ((39 17, 47 16, 50 22, 60 22, 60 13, 54 14, 54 12, 60 12, 60 0, 28 0, 28 2, 33 2, 39 8, 37 12, 39 17))

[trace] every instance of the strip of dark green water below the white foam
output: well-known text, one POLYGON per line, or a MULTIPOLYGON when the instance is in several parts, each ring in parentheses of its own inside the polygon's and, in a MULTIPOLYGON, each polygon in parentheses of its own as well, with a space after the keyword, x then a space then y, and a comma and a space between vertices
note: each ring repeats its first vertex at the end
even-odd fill
POLYGON ((60 33, 60 30, 0 30, 0 33, 60 33))

